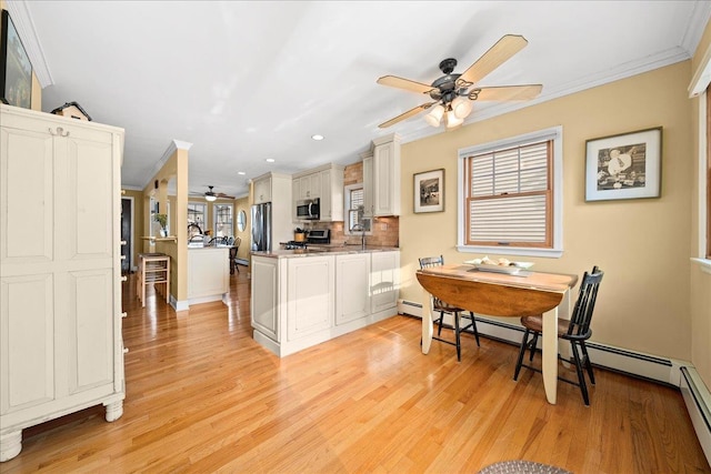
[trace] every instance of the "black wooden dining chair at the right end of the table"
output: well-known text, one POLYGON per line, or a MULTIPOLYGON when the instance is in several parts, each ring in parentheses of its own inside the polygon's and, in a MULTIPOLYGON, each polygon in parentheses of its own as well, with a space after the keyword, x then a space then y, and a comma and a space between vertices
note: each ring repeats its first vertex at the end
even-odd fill
MULTIPOLYGON (((599 270, 598 266, 593 266, 592 272, 590 273, 585 272, 582 276, 582 282, 580 283, 578 300, 575 301, 575 305, 573 306, 573 312, 570 320, 558 320, 558 337, 570 341, 573 363, 575 365, 575 372, 578 374, 578 382, 562 376, 559 376, 558 379, 562 382, 578 385, 582 393, 582 400, 585 402, 585 405, 590 405, 590 397, 588 395, 588 385, 585 384, 583 370, 588 372, 590 383, 592 385, 595 384, 595 377, 592 372, 592 364, 590 363, 590 356, 588 355, 585 341, 588 341, 592 335, 590 323, 592 321, 592 313, 595 307, 598 290, 600 289, 600 282, 602 281, 603 274, 604 272, 602 270, 599 270)), ((530 362, 533 362, 538 337, 539 335, 541 335, 543 330, 543 316, 523 316, 521 317, 521 324, 524 327, 524 332, 523 340, 521 341, 521 347, 519 349, 519 360, 515 364, 513 380, 519 379, 521 367, 541 372, 539 367, 530 365, 530 362), (529 337, 531 337, 530 341, 529 337), (527 349, 530 350, 529 364, 523 363, 523 356, 525 355, 527 349)))

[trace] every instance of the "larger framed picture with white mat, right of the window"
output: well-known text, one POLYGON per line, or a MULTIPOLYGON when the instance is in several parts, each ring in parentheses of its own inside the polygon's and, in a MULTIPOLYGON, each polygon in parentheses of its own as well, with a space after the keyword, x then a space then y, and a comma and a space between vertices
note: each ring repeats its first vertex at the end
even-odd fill
POLYGON ((662 128, 585 142, 585 201, 659 198, 662 128))

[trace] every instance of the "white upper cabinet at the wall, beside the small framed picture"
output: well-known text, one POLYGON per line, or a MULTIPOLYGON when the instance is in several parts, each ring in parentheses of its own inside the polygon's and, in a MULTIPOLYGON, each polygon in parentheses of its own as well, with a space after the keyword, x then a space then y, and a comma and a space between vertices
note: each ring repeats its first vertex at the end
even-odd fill
POLYGON ((363 159, 365 214, 400 215, 400 137, 373 140, 372 152, 363 159))

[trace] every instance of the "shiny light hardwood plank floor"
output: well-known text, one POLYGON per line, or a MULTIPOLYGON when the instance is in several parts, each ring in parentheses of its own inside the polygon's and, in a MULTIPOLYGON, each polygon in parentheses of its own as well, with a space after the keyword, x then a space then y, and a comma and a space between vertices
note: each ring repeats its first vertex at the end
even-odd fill
POLYGON ((420 352, 420 321, 381 323, 279 359, 251 339, 246 269, 229 305, 176 314, 124 283, 127 399, 28 428, 2 473, 477 472, 530 460, 575 473, 709 473, 678 390, 598 370, 591 405, 517 347, 482 339, 420 352), (133 289, 133 290, 132 290, 133 289))

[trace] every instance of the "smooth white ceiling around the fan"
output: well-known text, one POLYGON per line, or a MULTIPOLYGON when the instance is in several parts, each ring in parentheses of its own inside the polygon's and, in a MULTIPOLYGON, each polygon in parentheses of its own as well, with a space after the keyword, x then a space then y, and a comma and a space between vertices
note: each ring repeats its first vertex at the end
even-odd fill
POLYGON ((377 137, 411 141, 427 102, 375 83, 463 72, 507 33, 529 44, 479 85, 543 84, 532 102, 475 102, 465 123, 689 59, 708 1, 12 1, 43 87, 126 129, 122 184, 142 189, 172 140, 192 143, 190 191, 237 196, 268 171, 359 161, 377 137), (320 133, 326 140, 316 142, 320 133), (266 162, 274 159, 274 163, 266 162), (238 175, 238 171, 246 175, 238 175))

